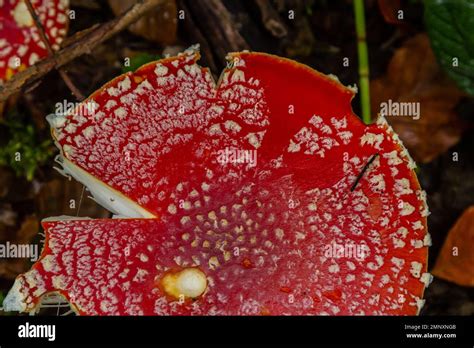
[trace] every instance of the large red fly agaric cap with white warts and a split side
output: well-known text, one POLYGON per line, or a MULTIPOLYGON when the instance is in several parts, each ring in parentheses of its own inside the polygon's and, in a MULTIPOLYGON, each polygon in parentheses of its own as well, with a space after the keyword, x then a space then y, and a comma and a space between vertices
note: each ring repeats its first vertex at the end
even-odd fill
POLYGON ((364 125, 354 89, 288 59, 230 54, 216 84, 198 58, 49 117, 64 173, 119 216, 44 221, 5 309, 56 291, 86 315, 418 313, 428 210, 385 120, 364 125))

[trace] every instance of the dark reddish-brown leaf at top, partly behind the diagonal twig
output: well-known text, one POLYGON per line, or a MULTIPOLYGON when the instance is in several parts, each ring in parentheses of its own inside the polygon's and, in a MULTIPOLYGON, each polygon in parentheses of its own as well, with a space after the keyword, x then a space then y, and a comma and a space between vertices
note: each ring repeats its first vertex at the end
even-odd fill
MULTIPOLYGON (((137 0, 109 0, 109 6, 117 16, 137 0)), ((174 0, 167 0, 163 5, 143 16, 128 27, 135 35, 163 45, 169 45, 176 41, 177 30, 177 7, 174 0)))

